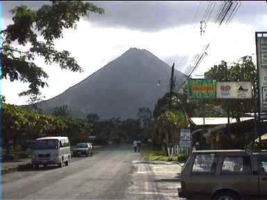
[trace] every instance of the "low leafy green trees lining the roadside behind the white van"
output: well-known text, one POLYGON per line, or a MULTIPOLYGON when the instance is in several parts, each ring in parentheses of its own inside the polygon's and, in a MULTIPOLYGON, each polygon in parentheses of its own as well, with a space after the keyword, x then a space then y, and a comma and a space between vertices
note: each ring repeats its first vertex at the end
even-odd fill
POLYGON ((67 136, 71 142, 88 138, 92 124, 83 119, 42 115, 33 110, 3 103, 3 145, 12 140, 21 144, 25 139, 42 136, 67 136))

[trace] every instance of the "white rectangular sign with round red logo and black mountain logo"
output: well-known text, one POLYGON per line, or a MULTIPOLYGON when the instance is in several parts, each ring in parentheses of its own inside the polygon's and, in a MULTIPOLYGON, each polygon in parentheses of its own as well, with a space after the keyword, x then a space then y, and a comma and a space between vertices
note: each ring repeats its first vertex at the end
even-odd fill
POLYGON ((251 99, 251 82, 217 82, 217 99, 251 99))

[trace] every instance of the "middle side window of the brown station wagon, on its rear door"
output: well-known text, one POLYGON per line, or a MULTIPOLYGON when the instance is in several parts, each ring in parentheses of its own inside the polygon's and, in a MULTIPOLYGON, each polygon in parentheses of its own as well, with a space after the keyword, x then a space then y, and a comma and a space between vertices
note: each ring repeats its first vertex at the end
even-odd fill
POLYGON ((250 174, 251 162, 249 156, 228 156, 223 160, 221 174, 250 174))

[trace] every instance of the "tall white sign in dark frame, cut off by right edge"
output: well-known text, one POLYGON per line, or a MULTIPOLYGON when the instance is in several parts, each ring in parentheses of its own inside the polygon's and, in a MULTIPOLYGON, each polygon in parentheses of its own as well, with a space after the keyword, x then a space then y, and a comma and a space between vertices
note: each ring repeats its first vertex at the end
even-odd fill
POLYGON ((260 111, 267 112, 267 32, 256 33, 260 111))

